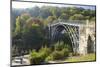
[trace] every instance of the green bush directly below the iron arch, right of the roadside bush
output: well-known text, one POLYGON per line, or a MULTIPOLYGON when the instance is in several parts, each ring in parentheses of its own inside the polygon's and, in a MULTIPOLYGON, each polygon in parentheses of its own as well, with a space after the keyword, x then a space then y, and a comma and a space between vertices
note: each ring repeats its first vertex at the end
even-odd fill
POLYGON ((63 42, 57 42, 54 44, 53 52, 45 60, 59 60, 64 57, 68 57, 69 53, 70 50, 68 45, 64 44, 63 42))

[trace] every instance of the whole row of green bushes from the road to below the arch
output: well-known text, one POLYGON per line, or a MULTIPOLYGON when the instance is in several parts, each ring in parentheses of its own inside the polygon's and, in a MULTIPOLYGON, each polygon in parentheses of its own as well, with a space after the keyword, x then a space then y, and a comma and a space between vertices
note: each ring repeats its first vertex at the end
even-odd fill
POLYGON ((30 63, 41 64, 41 62, 44 61, 59 60, 64 57, 68 57, 69 53, 70 51, 68 45, 63 44, 62 42, 60 44, 54 45, 53 50, 47 46, 41 47, 38 52, 35 50, 30 52, 30 63))

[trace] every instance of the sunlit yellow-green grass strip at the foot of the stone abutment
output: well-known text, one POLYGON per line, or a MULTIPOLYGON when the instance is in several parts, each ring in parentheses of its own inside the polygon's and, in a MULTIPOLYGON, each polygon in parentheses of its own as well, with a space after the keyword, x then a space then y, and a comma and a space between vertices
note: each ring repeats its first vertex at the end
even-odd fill
POLYGON ((81 61, 95 61, 96 55, 95 53, 87 54, 84 56, 74 56, 65 59, 66 62, 81 62, 81 61))

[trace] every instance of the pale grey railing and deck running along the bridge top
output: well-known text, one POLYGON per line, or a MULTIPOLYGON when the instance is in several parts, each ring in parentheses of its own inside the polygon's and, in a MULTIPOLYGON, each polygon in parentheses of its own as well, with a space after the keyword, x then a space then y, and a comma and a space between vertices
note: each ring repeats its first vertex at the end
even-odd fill
POLYGON ((48 26, 53 26, 55 24, 59 24, 59 23, 64 23, 64 24, 69 24, 69 25, 76 25, 76 26, 85 26, 85 27, 90 27, 91 23, 92 26, 93 24, 95 25, 95 21, 91 21, 91 20, 62 20, 62 19, 58 19, 58 20, 54 20, 53 22, 49 23, 48 26))

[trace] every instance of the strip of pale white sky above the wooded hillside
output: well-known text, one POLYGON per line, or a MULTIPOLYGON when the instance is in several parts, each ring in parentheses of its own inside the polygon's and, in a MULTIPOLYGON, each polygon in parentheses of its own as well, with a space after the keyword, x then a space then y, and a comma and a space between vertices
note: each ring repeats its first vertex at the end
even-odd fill
POLYGON ((34 6, 42 7, 42 6, 58 6, 58 7, 83 7, 85 9, 95 10, 94 6, 80 6, 80 5, 64 5, 64 4, 47 4, 47 3, 33 3, 33 2, 12 2, 12 8, 31 8, 34 6))

